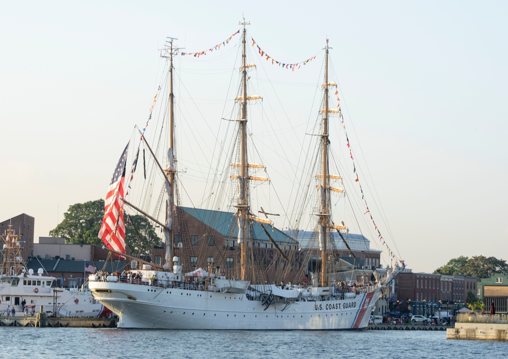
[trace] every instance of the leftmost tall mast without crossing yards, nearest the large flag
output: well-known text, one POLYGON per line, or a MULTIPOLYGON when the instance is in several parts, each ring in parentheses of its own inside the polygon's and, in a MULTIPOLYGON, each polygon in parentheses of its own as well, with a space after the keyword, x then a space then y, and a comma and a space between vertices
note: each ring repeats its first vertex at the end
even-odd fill
POLYGON ((173 230, 174 223, 174 198, 175 198, 175 166, 174 166, 174 153, 175 153, 175 144, 174 144, 174 94, 173 94, 173 55, 178 50, 177 48, 173 48, 173 40, 178 40, 175 38, 168 38, 167 41, 169 45, 166 44, 166 51, 169 50, 169 56, 162 56, 165 58, 169 58, 169 148, 168 148, 168 160, 166 166, 166 191, 168 193, 168 200, 166 202, 166 226, 169 231, 165 231, 166 235, 166 262, 170 263, 170 267, 173 267, 173 256, 172 251, 175 248, 175 233, 173 230), (169 48, 168 48, 169 47, 169 48))

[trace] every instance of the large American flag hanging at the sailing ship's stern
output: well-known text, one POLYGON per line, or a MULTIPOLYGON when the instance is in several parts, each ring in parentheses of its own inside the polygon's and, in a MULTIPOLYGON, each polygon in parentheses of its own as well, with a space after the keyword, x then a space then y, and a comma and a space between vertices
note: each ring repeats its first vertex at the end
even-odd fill
POLYGON ((125 146, 113 172, 104 203, 104 219, 99 231, 99 238, 107 247, 122 253, 125 253, 125 224, 123 223, 123 208, 120 198, 123 197, 128 147, 129 143, 125 146))

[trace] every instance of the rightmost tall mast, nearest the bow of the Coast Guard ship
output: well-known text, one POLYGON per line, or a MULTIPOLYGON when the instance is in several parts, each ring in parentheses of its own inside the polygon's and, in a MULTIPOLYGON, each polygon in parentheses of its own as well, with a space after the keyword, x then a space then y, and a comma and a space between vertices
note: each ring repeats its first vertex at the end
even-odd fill
POLYGON ((330 230, 347 230, 344 225, 334 225, 331 219, 331 206, 330 206, 330 191, 344 192, 343 189, 335 188, 330 186, 330 178, 340 179, 338 175, 332 175, 329 173, 328 167, 328 145, 330 144, 329 132, 328 132, 328 114, 337 113, 335 109, 330 109, 328 105, 328 93, 329 88, 337 86, 334 82, 328 80, 328 52, 331 47, 328 46, 328 39, 326 40, 325 50, 325 82, 323 84, 323 108, 320 112, 323 114, 323 132, 321 134, 322 141, 322 158, 321 168, 322 173, 318 174, 317 177, 321 177, 321 184, 319 185, 321 206, 319 216, 319 246, 321 251, 321 278, 320 283, 322 287, 328 286, 328 232, 330 230))

